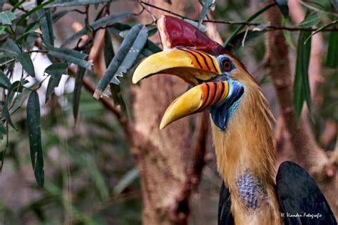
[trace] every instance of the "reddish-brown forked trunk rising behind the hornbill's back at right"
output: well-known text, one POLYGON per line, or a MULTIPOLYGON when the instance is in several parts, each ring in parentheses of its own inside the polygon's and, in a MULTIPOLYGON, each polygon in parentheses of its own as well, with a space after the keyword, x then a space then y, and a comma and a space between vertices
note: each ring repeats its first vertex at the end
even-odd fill
MULTIPOLYGON (((272 0, 267 1, 267 4, 272 2, 272 0)), ((272 26, 280 25, 282 15, 277 6, 268 10, 265 16, 272 26)), ((304 110, 302 117, 297 121, 292 101, 293 72, 290 69, 288 45, 282 31, 267 32, 266 46, 270 76, 272 76, 277 92, 277 99, 280 102, 282 121, 284 121, 287 135, 290 137, 290 144, 288 146, 291 147, 291 159, 297 161, 297 163, 314 176, 314 179, 317 180, 319 187, 329 201, 332 211, 338 215, 337 164, 333 163, 336 159, 335 157, 328 157, 317 145, 307 120, 306 110, 304 110)), ((312 49, 312 51, 317 50, 312 49)), ((313 59, 314 54, 311 57, 313 59)), ((314 83, 311 86, 314 88, 314 83)))

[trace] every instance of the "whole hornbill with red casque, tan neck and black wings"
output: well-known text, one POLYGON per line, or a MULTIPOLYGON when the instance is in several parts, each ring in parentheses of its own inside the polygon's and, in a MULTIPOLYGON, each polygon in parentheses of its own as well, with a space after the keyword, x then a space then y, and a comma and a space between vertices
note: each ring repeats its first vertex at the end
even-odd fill
POLYGON ((245 66, 194 26, 172 16, 158 20, 163 51, 135 69, 133 83, 154 74, 193 86, 173 101, 160 123, 208 110, 217 169, 223 178, 218 224, 337 224, 314 180, 297 164, 274 178, 273 116, 245 66))

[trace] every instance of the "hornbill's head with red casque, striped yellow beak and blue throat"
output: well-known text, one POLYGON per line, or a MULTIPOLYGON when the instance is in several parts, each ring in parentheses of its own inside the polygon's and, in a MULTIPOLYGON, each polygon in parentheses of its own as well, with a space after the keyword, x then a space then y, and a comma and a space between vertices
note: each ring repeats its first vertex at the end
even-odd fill
MULTIPOLYGON (((138 65, 133 83, 155 74, 172 74, 192 85, 168 106, 160 129, 180 118, 209 110, 221 130, 240 104, 247 81, 245 67, 232 54, 185 21, 171 16, 158 20, 163 51, 138 65)), ((160 87, 159 87, 160 88, 160 87)))

